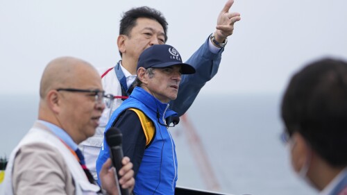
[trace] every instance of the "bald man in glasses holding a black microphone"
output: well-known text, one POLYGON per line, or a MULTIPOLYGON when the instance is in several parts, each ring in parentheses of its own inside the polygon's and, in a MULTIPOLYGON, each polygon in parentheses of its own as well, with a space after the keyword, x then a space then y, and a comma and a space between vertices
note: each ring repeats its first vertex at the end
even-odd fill
MULTIPOLYGON (((49 62, 40 83, 38 119, 10 155, 3 194, 118 194, 110 159, 100 171, 103 190, 78 149, 94 135, 112 98, 89 63, 70 57, 49 62)), ((119 183, 131 189, 133 165, 129 158, 122 163, 119 183)))

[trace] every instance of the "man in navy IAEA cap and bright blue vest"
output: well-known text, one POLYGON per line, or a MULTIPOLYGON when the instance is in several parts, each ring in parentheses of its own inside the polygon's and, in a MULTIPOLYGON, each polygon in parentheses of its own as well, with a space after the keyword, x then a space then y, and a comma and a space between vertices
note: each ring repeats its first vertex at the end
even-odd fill
MULTIPOLYGON (((139 56, 136 87, 105 128, 107 132, 117 127, 123 134, 124 155, 134 165, 135 194, 175 192, 176 151, 165 119, 177 115, 169 109, 169 101, 177 97, 181 74, 194 73, 194 67, 183 63, 178 51, 167 44, 155 44, 139 56)), ((98 174, 109 156, 104 140, 96 161, 98 174)))

